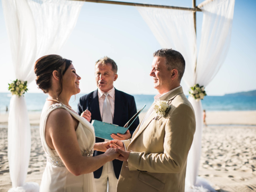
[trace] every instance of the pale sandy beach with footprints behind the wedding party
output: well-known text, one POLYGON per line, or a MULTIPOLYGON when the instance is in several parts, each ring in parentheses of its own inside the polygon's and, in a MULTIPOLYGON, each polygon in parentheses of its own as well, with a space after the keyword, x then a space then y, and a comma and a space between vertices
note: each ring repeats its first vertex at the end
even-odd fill
MULTIPOLYGON (((32 147, 27 182, 40 184, 46 164, 39 136, 40 114, 30 114, 32 147)), ((140 115, 140 119, 143 114, 140 115)), ((208 112, 199 176, 221 192, 256 190, 256 111, 208 112)), ((0 115, 0 192, 11 188, 7 158, 8 115, 0 115)))

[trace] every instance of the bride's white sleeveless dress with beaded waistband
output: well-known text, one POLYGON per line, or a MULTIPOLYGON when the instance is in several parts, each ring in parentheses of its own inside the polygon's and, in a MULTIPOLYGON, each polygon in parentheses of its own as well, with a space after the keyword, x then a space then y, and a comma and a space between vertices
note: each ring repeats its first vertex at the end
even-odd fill
POLYGON ((74 176, 64 166, 56 150, 52 150, 46 143, 46 121, 50 112, 57 108, 64 108, 79 121, 76 136, 81 155, 92 156, 93 154, 93 146, 95 144, 93 126, 62 104, 51 105, 47 110, 42 112, 40 120, 40 138, 47 157, 46 168, 40 184, 40 192, 96 192, 93 173, 74 176))

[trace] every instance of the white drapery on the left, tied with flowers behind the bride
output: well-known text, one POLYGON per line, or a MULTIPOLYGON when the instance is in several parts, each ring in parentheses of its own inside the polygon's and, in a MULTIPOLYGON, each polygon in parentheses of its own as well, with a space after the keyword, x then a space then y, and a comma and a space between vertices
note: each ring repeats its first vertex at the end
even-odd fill
MULTIPOLYGON (((68 0, 2 0, 10 40, 15 78, 32 82, 34 63, 56 54, 70 36, 83 2, 68 0)), ((36 192, 36 183, 25 183, 30 160, 31 134, 26 102, 14 95, 8 119, 10 192, 36 192)))

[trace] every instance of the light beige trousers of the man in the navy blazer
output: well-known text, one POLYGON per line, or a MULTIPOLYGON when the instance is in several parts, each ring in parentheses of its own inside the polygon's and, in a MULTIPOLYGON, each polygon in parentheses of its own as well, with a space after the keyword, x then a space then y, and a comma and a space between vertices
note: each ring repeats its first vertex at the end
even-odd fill
POLYGON ((116 192, 118 179, 116 178, 112 161, 103 166, 102 174, 99 179, 94 179, 96 192, 116 192))

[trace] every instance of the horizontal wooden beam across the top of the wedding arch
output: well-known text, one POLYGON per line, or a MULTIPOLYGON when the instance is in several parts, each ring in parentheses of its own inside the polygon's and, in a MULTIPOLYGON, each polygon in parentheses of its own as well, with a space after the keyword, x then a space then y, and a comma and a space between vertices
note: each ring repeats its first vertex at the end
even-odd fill
POLYGON ((155 8, 164 8, 164 9, 178 9, 186 11, 202 11, 198 7, 186 8, 186 7, 175 7, 175 6, 166 6, 166 5, 152 5, 152 4, 143 4, 143 3, 130 3, 130 2, 120 2, 120 1, 106 1, 106 0, 78 0, 84 2, 92 3, 105 3, 105 4, 116 4, 116 5, 128 5, 128 6, 141 6, 141 7, 155 7, 155 8))

